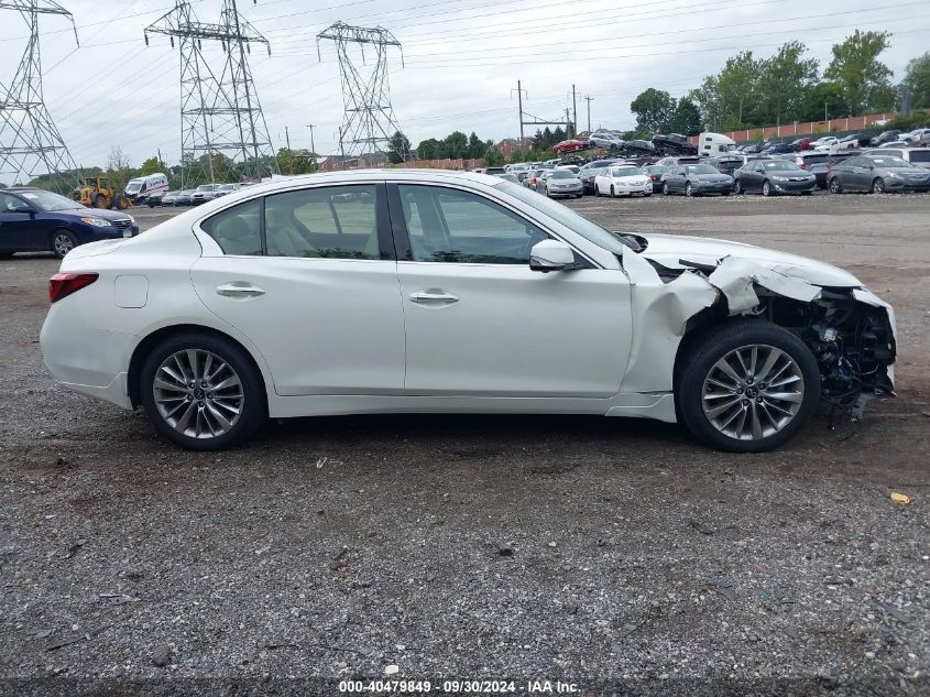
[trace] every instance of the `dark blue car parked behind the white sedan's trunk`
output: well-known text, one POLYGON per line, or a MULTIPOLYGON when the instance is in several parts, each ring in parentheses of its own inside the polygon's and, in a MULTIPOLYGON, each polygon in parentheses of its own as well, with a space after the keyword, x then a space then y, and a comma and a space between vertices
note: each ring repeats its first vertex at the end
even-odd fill
POLYGON ((55 252, 64 257, 78 244, 139 235, 132 216, 85 208, 41 188, 0 189, 0 258, 15 252, 55 252))

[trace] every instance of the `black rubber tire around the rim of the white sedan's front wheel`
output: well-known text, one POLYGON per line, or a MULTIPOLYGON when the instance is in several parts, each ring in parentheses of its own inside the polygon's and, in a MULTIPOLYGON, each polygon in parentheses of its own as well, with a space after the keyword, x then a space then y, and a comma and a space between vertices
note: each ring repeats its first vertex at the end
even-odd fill
MULTIPOLYGON (((746 394, 748 395, 748 389, 746 394)), ((734 397, 742 399, 744 411, 747 403, 752 405, 752 399, 747 400, 735 394, 734 397)), ((701 440, 732 453, 761 453, 785 444, 810 420, 820 401, 820 371, 810 349, 796 335, 770 322, 744 319, 711 329, 691 347, 688 362, 681 372, 676 390, 676 401, 681 421, 701 440), (780 429, 761 438, 740 439, 722 433, 705 414, 702 406, 704 381, 714 370, 718 361, 741 347, 754 345, 774 347, 784 351, 794 361, 798 373, 803 379, 803 391, 796 413, 780 429)), ((778 415, 777 412, 776 415, 778 415)), ((761 423, 763 423, 762 417, 761 423)), ((772 426, 770 421, 768 426, 772 426)))

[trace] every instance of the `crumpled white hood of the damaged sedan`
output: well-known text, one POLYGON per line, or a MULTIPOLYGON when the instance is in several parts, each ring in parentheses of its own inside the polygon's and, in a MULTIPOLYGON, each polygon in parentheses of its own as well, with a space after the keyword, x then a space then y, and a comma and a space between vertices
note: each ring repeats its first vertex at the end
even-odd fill
POLYGON ((779 252, 764 247, 743 244, 703 237, 678 235, 643 235, 648 242, 642 255, 669 269, 680 269, 689 262, 711 266, 733 257, 758 263, 787 276, 813 285, 858 287, 862 283, 853 274, 807 257, 779 252))

